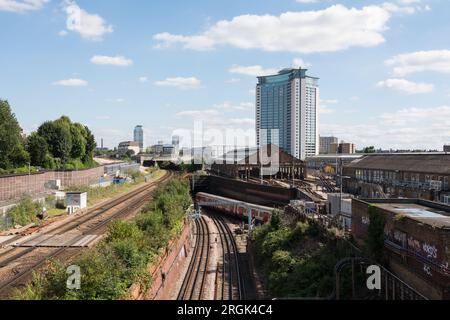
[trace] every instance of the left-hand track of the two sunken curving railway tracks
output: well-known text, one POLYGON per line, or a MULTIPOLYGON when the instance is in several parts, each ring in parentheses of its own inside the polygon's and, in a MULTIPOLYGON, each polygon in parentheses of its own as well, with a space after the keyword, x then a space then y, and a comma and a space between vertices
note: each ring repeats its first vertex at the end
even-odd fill
POLYGON ((196 241, 186 277, 181 285, 177 300, 201 300, 208 275, 210 254, 210 233, 205 219, 195 220, 196 241))

